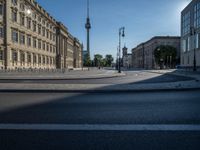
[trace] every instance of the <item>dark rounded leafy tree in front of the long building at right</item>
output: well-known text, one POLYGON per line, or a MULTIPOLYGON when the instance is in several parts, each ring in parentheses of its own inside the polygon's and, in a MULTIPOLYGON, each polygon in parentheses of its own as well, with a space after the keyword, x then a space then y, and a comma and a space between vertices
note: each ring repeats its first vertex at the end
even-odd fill
POLYGON ((173 68, 176 65, 177 49, 172 46, 161 45, 154 50, 156 63, 162 69, 163 66, 173 68))

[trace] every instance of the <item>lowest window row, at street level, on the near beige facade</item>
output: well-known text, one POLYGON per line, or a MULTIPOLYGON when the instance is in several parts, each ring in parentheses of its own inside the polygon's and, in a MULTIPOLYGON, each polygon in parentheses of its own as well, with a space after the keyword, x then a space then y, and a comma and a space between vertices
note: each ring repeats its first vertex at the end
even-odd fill
POLYGON ((29 52, 21 51, 18 53, 16 50, 12 50, 12 61, 22 62, 22 63, 33 63, 33 64, 46 64, 46 65, 55 65, 55 58, 50 56, 32 54, 29 52), (18 57, 19 54, 19 57, 18 57))

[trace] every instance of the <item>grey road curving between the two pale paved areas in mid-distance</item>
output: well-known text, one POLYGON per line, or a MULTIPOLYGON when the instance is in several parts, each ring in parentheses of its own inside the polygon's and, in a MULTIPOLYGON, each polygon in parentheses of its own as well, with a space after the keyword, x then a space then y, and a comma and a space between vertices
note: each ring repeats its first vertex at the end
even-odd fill
POLYGON ((145 71, 125 71, 126 76, 97 79, 15 79, 0 80, 0 83, 46 83, 46 84, 140 84, 140 83, 165 83, 194 80, 193 78, 169 74, 157 74, 145 71))

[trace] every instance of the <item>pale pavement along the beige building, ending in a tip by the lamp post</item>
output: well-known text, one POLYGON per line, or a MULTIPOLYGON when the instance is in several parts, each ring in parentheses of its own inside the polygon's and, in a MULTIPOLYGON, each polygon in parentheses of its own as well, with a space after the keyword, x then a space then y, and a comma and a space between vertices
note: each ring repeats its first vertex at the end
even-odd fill
POLYGON ((67 71, 64 73, 18 73, 6 72, 0 73, 0 80, 15 80, 15 79, 30 79, 30 80, 76 80, 76 79, 99 79, 99 78, 113 78, 125 76, 125 73, 119 74, 115 70, 90 70, 90 71, 67 71))

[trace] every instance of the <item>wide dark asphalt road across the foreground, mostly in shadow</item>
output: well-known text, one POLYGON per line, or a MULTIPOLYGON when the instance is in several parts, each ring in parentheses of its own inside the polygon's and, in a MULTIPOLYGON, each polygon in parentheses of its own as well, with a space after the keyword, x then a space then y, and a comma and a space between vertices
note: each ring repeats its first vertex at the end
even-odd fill
POLYGON ((190 126, 179 130, 179 125, 199 127, 199 90, 106 94, 0 93, 1 150, 198 150, 200 130, 193 130, 190 126), (13 127, 5 130, 3 125, 13 127), (28 127, 26 130, 24 125, 28 127), (70 125, 78 127, 72 129, 70 125), (97 127, 84 128, 85 125, 97 127), (109 125, 109 129, 104 125, 109 125), (126 125, 131 129, 127 130, 126 125), (137 130, 134 125, 147 125, 147 128, 137 130), (158 127, 151 130, 153 125, 158 127), (178 127, 171 130, 170 125, 178 127), (16 129, 17 126, 22 129, 16 129), (119 129, 114 130, 116 127, 119 129))

